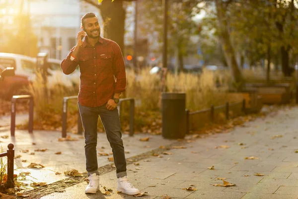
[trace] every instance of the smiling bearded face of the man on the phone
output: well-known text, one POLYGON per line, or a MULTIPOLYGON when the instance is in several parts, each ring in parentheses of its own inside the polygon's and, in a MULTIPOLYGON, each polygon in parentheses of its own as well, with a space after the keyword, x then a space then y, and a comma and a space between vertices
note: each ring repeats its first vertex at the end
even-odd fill
POLYGON ((82 22, 83 30, 89 38, 96 39, 100 36, 100 27, 97 17, 85 18, 82 22))

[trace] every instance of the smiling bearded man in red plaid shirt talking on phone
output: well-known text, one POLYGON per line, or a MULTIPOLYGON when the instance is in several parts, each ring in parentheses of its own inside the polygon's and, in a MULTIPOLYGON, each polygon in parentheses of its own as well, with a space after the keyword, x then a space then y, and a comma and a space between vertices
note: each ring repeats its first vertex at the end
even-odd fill
POLYGON ((81 28, 83 30, 77 33, 77 44, 62 61, 61 69, 66 75, 74 72, 77 65, 80 70, 78 107, 84 128, 89 179, 85 193, 96 194, 99 190, 96 155, 99 115, 113 151, 117 191, 128 195, 139 194, 140 191, 128 182, 120 118, 116 108, 121 93, 126 90, 121 49, 114 41, 100 37, 98 19, 94 13, 86 13, 81 18, 81 28))

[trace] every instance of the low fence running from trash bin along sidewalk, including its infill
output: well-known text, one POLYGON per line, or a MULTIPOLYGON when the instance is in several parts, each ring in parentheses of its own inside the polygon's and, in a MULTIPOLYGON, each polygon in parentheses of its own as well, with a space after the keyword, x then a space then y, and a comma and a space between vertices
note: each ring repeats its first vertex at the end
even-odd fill
POLYGON ((186 110, 186 133, 199 130, 210 123, 221 123, 228 119, 243 115, 245 112, 245 100, 214 106, 210 108, 190 112, 186 110))

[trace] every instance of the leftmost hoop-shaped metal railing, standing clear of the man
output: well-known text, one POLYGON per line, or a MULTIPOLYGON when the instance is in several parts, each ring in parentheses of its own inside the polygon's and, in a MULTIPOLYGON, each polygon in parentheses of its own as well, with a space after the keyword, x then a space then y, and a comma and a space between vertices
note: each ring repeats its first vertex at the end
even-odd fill
POLYGON ((18 99, 29 99, 29 133, 33 132, 33 107, 34 100, 30 95, 12 96, 11 99, 11 120, 10 120, 10 135, 13 137, 15 133, 15 113, 16 113, 16 101, 18 99))

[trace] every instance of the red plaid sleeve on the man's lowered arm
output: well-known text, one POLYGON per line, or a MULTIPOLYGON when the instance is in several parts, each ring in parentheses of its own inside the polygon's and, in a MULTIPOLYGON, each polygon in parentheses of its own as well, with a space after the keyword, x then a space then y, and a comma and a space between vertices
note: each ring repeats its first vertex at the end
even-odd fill
POLYGON ((122 92, 126 91, 126 72, 123 55, 117 43, 114 43, 113 45, 113 52, 113 71, 116 78, 114 93, 121 94, 122 92))

